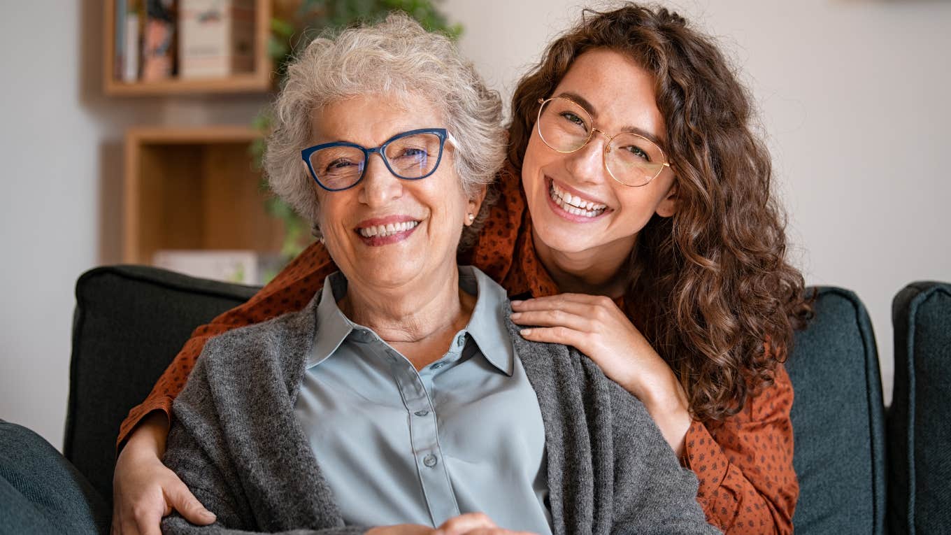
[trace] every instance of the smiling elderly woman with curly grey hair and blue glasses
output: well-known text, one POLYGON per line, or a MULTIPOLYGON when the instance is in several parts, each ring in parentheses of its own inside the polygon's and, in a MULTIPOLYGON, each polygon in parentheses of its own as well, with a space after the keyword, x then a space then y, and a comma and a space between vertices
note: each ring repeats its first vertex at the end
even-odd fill
POLYGON ((166 532, 714 531, 645 407, 576 350, 518 336, 505 290, 456 265, 499 115, 405 16, 290 67, 266 168, 340 272, 206 345, 165 463, 217 520, 166 532))

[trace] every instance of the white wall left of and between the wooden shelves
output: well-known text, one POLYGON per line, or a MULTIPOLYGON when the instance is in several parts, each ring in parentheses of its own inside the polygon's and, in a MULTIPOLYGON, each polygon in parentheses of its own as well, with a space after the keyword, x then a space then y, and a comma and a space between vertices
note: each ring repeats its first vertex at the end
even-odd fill
POLYGON ((267 100, 107 98, 103 2, 0 3, 0 418, 62 447, 73 285, 121 261, 126 128, 250 124, 267 100))

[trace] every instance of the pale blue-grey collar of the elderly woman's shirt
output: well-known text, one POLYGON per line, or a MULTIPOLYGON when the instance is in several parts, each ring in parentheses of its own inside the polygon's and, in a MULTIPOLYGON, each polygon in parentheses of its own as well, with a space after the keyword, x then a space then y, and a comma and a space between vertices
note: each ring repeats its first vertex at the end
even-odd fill
MULTIPOLYGON (((515 352, 509 331, 505 327, 504 312, 508 306, 505 289, 478 268, 471 266, 459 267, 459 287, 476 294, 476 307, 473 308, 465 332, 476 342, 487 361, 502 373, 511 376, 514 372, 515 352)), ((340 271, 324 280, 317 307, 319 334, 307 357, 306 367, 315 367, 327 360, 347 336, 359 328, 337 305, 346 292, 347 280, 340 271)))

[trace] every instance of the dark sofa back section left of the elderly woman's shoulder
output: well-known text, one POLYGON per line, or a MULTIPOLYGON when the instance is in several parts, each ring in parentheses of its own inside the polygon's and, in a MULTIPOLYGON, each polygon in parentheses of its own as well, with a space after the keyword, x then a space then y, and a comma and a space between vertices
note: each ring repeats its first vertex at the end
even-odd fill
POLYGON ((64 454, 111 503, 119 425, 191 331, 258 288, 141 266, 90 269, 76 282, 64 454))

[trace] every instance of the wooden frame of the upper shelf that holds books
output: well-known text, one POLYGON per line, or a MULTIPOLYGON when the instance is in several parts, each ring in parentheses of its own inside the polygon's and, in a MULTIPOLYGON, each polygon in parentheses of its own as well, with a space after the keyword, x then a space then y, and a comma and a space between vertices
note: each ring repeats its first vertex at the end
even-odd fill
POLYGON ((181 79, 159 82, 123 82, 115 79, 115 15, 117 0, 106 2, 104 27, 103 88, 109 96, 156 96, 169 94, 253 93, 271 89, 271 58, 267 38, 271 25, 271 1, 254 0, 254 70, 226 78, 181 79))

